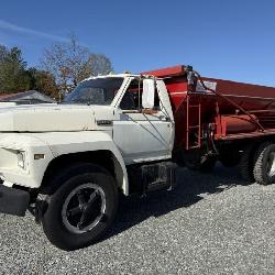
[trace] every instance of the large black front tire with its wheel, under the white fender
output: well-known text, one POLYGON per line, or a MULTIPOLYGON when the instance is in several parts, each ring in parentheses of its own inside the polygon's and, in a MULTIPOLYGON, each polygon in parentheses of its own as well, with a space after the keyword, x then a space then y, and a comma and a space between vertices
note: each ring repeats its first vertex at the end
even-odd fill
POLYGON ((113 177, 99 166, 73 165, 51 180, 46 190, 51 190, 50 193, 53 195, 51 195, 48 207, 42 217, 43 230, 48 240, 62 250, 70 251, 95 243, 113 222, 118 207, 118 188, 113 177), (94 205, 96 204, 94 200, 97 205, 94 205), (75 210, 73 202, 76 202, 75 210), (102 206, 105 206, 103 210, 102 206), (73 218, 69 218, 69 213, 73 218), (86 229, 87 224, 92 226, 94 216, 94 227, 86 229), (79 219, 80 221, 77 223, 79 219))

